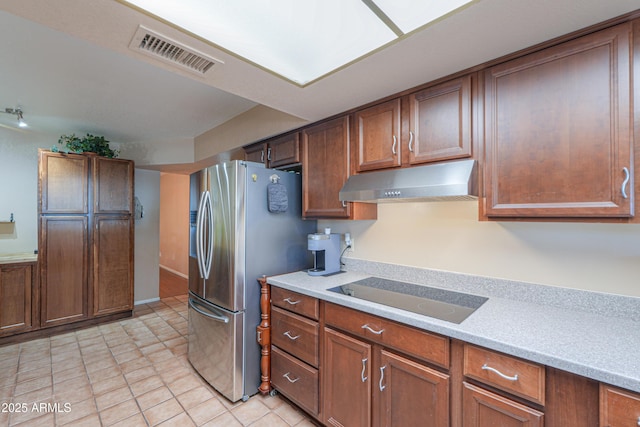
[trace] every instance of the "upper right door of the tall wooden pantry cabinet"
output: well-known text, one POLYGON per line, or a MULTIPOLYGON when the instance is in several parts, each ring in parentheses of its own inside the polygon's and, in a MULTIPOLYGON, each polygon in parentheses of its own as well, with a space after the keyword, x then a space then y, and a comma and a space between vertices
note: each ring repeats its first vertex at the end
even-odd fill
POLYGON ((131 213, 133 162, 106 157, 97 157, 94 161, 94 213, 131 213))

